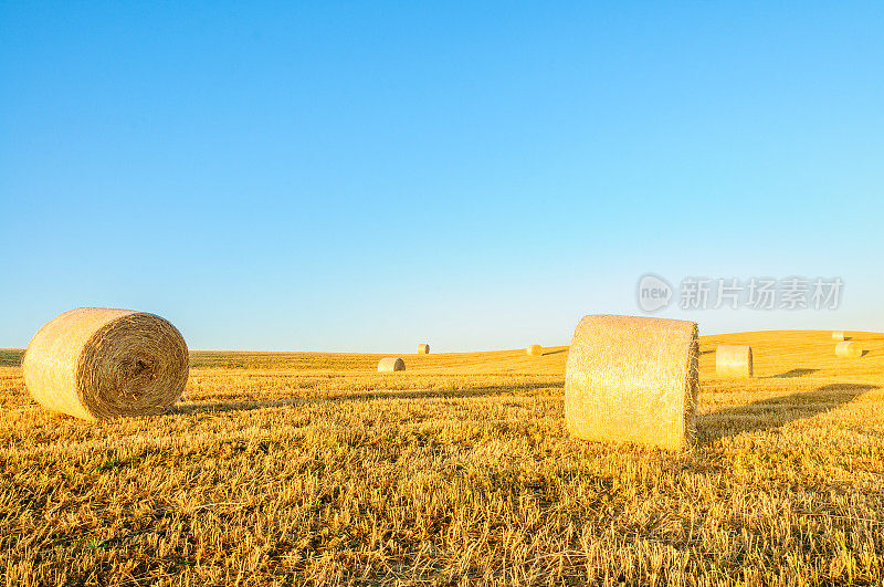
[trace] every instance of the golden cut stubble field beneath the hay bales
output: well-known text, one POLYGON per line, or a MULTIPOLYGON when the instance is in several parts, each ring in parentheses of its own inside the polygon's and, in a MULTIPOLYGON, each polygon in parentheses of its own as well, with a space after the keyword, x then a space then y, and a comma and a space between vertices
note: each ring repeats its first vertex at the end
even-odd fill
POLYGON ((193 353, 173 413, 91 423, 0 352, 8 584, 881 584, 884 336, 703 337, 698 447, 570 439, 566 349, 193 353), (751 345, 755 379, 715 377, 751 345))

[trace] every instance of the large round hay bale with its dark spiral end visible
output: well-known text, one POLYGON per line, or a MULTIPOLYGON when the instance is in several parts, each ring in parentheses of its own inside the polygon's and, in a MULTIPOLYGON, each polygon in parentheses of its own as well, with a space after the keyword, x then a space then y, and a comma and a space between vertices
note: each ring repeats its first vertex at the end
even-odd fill
POLYGON ((31 397, 84 420, 161 413, 187 384, 181 333, 154 314, 81 307, 46 323, 22 360, 31 397))

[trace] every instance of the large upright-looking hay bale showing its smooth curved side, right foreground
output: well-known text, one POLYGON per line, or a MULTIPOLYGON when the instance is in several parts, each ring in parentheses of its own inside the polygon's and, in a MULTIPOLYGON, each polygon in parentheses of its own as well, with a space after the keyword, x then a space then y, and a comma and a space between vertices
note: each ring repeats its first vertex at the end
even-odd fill
POLYGON ((694 439, 697 325, 644 316, 585 316, 565 371, 576 438, 681 449, 694 439))

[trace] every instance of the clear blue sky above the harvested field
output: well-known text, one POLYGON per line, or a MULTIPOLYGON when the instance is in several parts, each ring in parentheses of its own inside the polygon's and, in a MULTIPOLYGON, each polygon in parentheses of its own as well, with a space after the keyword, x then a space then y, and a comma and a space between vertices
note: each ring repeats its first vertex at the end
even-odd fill
POLYGON ((567 344, 648 272, 839 276, 884 331, 881 2, 0 3, 0 347, 567 344))

